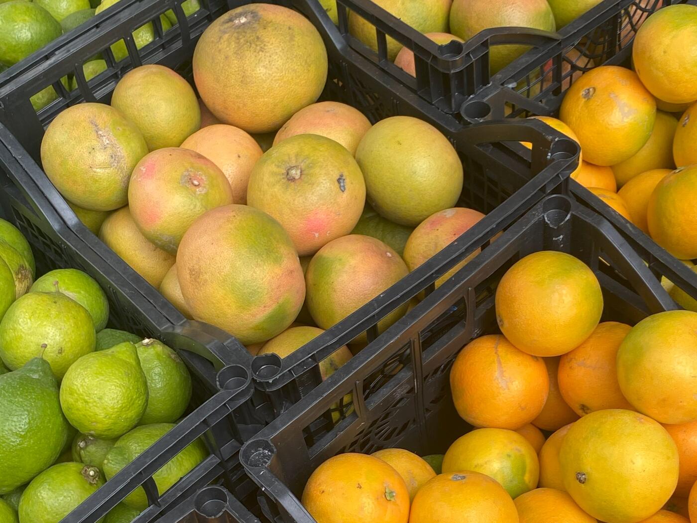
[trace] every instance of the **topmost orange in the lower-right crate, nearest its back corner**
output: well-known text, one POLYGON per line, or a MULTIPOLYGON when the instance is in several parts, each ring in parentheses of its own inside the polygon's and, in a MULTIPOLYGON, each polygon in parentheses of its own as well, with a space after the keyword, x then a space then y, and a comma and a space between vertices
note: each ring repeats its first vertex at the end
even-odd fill
POLYGON ((597 326, 602 310, 595 274, 564 252, 539 251, 516 261, 496 289, 501 332, 535 356, 560 356, 578 347, 597 326))

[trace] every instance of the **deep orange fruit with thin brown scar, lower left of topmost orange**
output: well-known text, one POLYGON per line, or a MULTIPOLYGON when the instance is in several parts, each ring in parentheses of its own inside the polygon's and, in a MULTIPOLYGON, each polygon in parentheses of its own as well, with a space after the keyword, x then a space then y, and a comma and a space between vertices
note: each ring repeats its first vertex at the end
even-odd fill
POLYGON ((471 425, 516 430, 542 411, 549 377, 542 358, 501 335, 487 335, 457 355, 450 388, 458 414, 471 425))

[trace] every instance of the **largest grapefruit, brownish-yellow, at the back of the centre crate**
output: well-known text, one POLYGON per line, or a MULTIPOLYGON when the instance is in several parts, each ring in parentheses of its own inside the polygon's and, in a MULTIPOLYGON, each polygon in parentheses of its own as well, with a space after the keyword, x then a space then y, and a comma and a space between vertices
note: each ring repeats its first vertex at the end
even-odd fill
POLYGON ((193 69, 201 99, 217 118, 247 132, 269 132, 319 98, 327 52, 319 32, 296 11, 252 3, 206 28, 193 69))

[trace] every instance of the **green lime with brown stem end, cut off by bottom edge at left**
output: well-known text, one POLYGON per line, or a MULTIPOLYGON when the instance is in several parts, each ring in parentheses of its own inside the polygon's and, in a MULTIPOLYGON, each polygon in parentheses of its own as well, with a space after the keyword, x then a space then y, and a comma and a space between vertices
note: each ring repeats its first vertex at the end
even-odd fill
POLYGON ((104 478, 97 467, 56 464, 33 478, 24 490, 20 521, 58 523, 102 485, 104 478))

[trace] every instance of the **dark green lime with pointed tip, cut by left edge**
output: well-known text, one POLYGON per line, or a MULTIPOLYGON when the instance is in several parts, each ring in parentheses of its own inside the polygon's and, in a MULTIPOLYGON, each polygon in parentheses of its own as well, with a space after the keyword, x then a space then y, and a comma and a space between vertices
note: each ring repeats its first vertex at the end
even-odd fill
POLYGON ((0 375, 0 494, 52 464, 67 437, 58 384, 45 360, 0 375))

